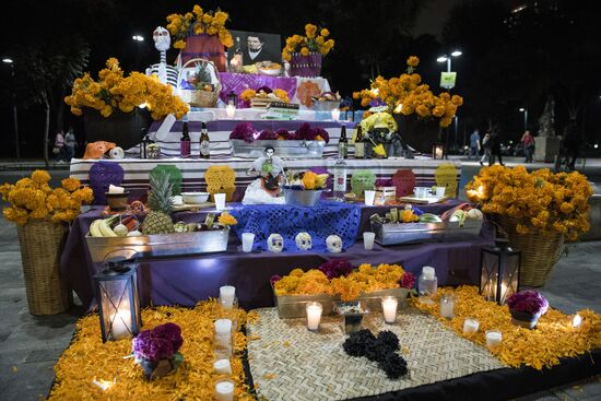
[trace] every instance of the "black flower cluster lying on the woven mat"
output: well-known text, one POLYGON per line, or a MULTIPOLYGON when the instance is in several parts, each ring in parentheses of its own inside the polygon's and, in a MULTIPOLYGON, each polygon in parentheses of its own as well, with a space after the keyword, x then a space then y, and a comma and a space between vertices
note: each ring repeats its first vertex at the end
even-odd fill
POLYGON ((369 330, 361 330, 349 335, 342 344, 344 352, 351 356, 365 356, 377 362, 389 379, 406 375, 406 361, 399 354, 399 338, 392 331, 380 331, 375 337, 369 330))

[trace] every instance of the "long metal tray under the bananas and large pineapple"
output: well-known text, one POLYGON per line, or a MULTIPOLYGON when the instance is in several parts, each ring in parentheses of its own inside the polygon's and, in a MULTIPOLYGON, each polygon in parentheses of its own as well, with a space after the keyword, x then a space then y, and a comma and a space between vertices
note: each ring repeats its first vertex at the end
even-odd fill
POLYGON ((177 255, 212 253, 227 249, 229 229, 208 232, 153 234, 140 237, 92 237, 85 236, 87 250, 93 262, 107 257, 131 256, 162 257, 177 255))

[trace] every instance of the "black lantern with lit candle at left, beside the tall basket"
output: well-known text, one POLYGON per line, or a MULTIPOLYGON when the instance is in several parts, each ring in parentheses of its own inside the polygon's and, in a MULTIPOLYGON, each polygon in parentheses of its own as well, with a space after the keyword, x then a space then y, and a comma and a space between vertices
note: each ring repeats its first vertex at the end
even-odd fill
POLYGON ((138 263, 115 258, 94 275, 103 342, 138 334, 142 327, 138 297, 138 263))

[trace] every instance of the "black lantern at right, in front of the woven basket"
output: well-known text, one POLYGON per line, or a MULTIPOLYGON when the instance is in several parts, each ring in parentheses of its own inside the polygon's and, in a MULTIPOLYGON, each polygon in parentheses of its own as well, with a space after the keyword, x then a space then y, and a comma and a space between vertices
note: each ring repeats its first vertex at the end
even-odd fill
POLYGON ((521 252, 507 239, 496 239, 494 247, 482 248, 480 255, 480 294, 505 305, 519 291, 521 252))

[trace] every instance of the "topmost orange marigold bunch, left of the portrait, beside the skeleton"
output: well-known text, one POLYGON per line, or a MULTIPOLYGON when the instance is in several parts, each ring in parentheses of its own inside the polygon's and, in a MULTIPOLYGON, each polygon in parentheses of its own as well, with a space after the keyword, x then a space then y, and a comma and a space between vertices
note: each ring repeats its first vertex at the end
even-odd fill
POLYGON ((182 49, 186 47, 186 38, 192 34, 217 35, 221 44, 225 47, 233 47, 232 33, 225 28, 229 15, 217 9, 217 11, 203 11, 195 4, 192 12, 186 14, 170 14, 167 16, 167 30, 174 36, 174 47, 182 49))

